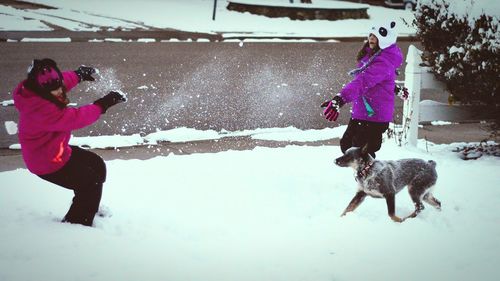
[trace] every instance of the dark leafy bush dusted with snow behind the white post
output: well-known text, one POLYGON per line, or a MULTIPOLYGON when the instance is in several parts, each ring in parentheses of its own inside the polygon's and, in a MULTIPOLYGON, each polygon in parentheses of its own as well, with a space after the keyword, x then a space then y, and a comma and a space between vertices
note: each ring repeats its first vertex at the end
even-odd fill
POLYGON ((500 34, 492 2, 419 1, 415 24, 425 49, 422 59, 446 82, 452 100, 487 105, 498 126, 500 34))

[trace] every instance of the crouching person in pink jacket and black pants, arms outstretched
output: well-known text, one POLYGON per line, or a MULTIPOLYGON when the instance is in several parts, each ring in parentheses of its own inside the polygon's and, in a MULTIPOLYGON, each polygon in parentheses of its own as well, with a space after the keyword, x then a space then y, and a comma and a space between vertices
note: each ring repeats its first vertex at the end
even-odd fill
POLYGON ((92 226, 99 209, 106 164, 93 152, 70 146, 71 131, 89 126, 125 97, 111 91, 92 104, 67 107, 67 93, 81 81, 94 81, 92 67, 61 72, 51 59, 34 60, 28 77, 13 92, 19 112, 19 143, 28 170, 73 190, 63 222, 92 226))

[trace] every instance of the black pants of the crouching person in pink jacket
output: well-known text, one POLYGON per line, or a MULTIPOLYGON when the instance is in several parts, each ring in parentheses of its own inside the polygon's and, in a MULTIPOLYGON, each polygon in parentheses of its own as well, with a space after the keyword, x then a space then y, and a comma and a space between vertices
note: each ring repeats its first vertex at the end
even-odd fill
POLYGON ((71 157, 58 171, 39 177, 74 191, 73 204, 64 222, 92 226, 106 180, 106 164, 97 154, 71 146, 71 157))

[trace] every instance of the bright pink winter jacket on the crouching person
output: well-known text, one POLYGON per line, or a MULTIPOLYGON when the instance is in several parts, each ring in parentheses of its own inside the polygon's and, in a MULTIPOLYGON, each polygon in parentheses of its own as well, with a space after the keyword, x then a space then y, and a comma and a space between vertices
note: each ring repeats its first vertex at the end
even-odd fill
MULTIPOLYGON (((73 71, 63 72, 69 92, 78 84, 73 71)), ((45 175, 61 169, 71 156, 68 145, 71 131, 91 125, 101 116, 98 105, 79 108, 59 108, 24 87, 21 82, 14 90, 14 105, 19 111, 19 143, 24 163, 30 172, 45 175)))

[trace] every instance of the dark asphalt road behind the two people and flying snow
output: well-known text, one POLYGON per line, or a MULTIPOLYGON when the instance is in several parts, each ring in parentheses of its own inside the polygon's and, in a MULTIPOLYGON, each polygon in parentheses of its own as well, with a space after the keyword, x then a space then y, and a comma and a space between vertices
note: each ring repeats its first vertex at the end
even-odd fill
MULTIPOLYGON (((412 42, 400 42, 406 54, 412 42)), ((55 59, 61 69, 80 64, 100 69, 97 82, 70 93, 84 105, 120 89, 129 101, 111 108, 76 136, 148 134, 175 127, 243 129, 295 126, 319 129, 319 104, 349 81, 360 42, 345 43, 0 43, 0 101, 12 99, 33 58, 55 59)), ((402 68, 404 72, 404 67, 402 68)), ((403 80, 404 77, 398 77, 403 80)), ((400 120, 398 101, 396 122, 400 120)), ((16 121, 13 106, 0 107, 0 148, 17 143, 4 121, 16 121)))

